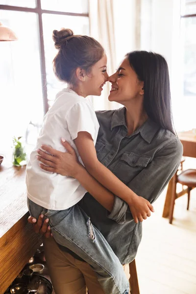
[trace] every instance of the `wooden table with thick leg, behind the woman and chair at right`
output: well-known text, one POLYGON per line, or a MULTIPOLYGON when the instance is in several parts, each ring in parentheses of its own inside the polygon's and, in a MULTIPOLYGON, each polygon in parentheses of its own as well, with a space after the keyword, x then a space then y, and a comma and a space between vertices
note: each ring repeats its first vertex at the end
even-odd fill
MULTIPOLYGON (((179 132, 178 137, 183 145, 183 156, 196 158, 196 135, 192 131, 179 132)), ((173 189, 173 177, 168 184, 168 190, 166 194, 166 200, 163 210, 163 218, 168 218, 171 205, 171 193, 173 189)))

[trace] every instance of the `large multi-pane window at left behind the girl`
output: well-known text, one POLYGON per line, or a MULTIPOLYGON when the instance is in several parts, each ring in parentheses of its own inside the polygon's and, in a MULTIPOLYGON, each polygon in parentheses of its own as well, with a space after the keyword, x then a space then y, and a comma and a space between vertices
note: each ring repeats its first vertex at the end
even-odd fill
POLYGON ((0 42, 0 153, 9 157, 13 136, 24 136, 32 149, 43 116, 62 87, 52 71, 53 29, 89 34, 89 17, 88 0, 0 3, 0 22, 18 36, 16 42, 0 42))

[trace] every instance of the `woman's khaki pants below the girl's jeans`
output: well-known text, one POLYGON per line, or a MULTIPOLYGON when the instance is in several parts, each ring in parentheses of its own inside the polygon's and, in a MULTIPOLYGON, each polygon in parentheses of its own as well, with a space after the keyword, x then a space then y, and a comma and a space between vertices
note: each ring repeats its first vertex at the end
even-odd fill
POLYGON ((104 294, 94 270, 88 263, 62 251, 53 238, 43 240, 55 294, 104 294))

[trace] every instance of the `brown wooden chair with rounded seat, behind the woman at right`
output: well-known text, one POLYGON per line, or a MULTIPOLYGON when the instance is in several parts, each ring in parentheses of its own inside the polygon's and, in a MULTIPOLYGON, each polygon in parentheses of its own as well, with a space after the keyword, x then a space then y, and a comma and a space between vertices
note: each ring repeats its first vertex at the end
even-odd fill
POLYGON ((178 172, 175 173, 173 176, 173 191, 172 191, 172 201, 170 206, 170 223, 173 220, 173 209, 175 204, 175 199, 179 198, 184 194, 188 194, 188 203, 187 203, 187 210, 189 209, 189 202, 190 202, 190 192, 192 189, 196 188, 196 170, 186 170, 182 171, 180 174, 178 172), (182 189, 181 192, 176 193, 176 185, 180 183, 182 185, 187 186, 186 189, 182 189))

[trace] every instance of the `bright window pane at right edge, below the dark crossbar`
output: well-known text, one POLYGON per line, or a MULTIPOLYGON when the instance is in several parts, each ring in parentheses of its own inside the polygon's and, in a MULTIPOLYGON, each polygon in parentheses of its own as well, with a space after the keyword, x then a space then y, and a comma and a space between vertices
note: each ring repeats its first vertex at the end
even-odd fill
POLYGON ((196 17, 181 19, 184 47, 184 95, 196 96, 196 17))

